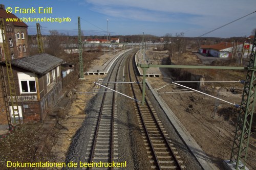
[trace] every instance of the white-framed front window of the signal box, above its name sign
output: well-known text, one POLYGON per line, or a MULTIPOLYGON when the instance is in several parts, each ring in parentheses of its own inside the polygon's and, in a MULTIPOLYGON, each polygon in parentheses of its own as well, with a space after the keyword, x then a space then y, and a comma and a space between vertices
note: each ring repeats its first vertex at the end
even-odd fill
POLYGON ((32 72, 18 72, 20 93, 35 93, 35 75, 32 72))

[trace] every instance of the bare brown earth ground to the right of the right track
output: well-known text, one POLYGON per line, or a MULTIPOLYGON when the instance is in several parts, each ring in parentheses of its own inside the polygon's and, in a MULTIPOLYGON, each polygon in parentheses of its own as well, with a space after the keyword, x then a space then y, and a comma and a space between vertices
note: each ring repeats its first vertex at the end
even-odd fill
MULTIPOLYGON (((147 53, 147 57, 151 58, 152 53, 157 52, 147 53)), ((156 55, 152 56, 152 59, 156 58, 156 55)), ((168 58, 162 58, 161 55, 159 55, 157 60, 160 59, 164 62, 169 62, 168 58)), ((177 65, 200 64, 200 60, 193 53, 187 53, 180 59, 172 59, 172 62, 177 65)), ((223 63, 217 60, 212 64, 226 65, 230 63, 223 63)), ((184 89, 171 84, 170 78, 180 81, 190 81, 191 74, 204 75, 205 81, 237 81, 245 80, 246 76, 245 71, 233 70, 162 69, 162 71, 167 77, 147 78, 155 89, 161 88, 167 84, 167 86, 159 89, 158 92, 175 92, 176 90, 184 89)), ((193 84, 186 83, 186 86, 197 89, 198 85, 193 84)), ((240 105, 242 89, 243 85, 240 83, 206 83, 202 91, 230 103, 240 105), (230 89, 234 89, 234 91, 230 91, 230 89)), ((222 162, 225 159, 230 159, 239 109, 231 104, 196 92, 165 93, 159 95, 172 109, 203 151, 210 157, 211 161, 214 162, 218 168, 224 169, 222 162)), ((246 165, 250 169, 256 169, 255 118, 253 125, 247 157, 248 163, 246 165)))

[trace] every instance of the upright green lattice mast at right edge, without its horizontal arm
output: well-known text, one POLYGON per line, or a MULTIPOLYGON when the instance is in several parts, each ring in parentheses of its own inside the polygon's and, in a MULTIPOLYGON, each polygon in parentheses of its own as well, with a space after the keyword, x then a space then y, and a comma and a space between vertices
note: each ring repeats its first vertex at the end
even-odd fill
POLYGON ((234 135, 233 147, 230 157, 230 162, 236 163, 236 169, 245 169, 247 152, 249 147, 249 138, 255 104, 254 99, 256 95, 256 54, 253 51, 255 47, 256 31, 253 39, 250 61, 248 65, 248 71, 242 96, 242 102, 238 115, 238 123, 236 127, 236 133, 234 135))

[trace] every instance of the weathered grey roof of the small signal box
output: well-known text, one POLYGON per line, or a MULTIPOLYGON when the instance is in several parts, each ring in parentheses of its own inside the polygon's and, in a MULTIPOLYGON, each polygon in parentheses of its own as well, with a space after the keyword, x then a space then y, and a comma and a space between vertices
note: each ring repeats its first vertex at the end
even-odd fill
POLYGON ((50 54, 37 54, 11 61, 11 64, 39 75, 44 75, 64 61, 50 54))

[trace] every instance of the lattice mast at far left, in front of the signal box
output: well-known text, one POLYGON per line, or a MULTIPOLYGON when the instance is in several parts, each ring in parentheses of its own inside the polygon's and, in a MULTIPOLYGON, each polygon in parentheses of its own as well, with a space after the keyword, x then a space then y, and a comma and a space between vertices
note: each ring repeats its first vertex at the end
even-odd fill
POLYGON ((7 43, 4 18, 2 18, 0 20, 0 25, 1 25, 4 56, 5 56, 5 63, 6 63, 6 70, 7 70, 6 72, 7 72, 8 85, 9 85, 8 86, 9 96, 10 96, 9 100, 11 102, 12 112, 9 109, 7 86, 5 84, 4 70, 3 70, 2 66, 1 66, 1 81, 2 81, 2 86, 3 86, 3 93, 4 93, 4 100, 5 100, 8 124, 9 124, 9 128, 11 129, 12 125, 13 126, 21 125, 21 120, 20 120, 19 111, 18 111, 17 95, 16 95, 16 89, 15 89, 15 84, 14 84, 14 79, 13 79, 11 57, 10 57, 10 53, 9 53, 8 43, 7 43), (10 114, 12 114, 13 120, 12 120, 12 116, 10 114))

